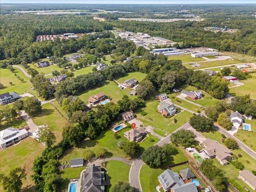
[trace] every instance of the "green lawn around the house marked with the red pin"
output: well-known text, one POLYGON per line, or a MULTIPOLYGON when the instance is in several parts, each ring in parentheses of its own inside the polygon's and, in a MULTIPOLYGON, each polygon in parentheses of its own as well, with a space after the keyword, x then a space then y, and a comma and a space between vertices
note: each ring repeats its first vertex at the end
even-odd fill
MULTIPOLYGON (((128 142, 128 140, 124 137, 124 132, 129 131, 130 129, 131 128, 125 128, 118 131, 117 134, 121 137, 119 139, 115 138, 114 132, 111 130, 101 132, 101 134, 95 140, 85 139, 78 145, 78 147, 68 149, 66 154, 61 159, 61 162, 68 162, 72 158, 83 158, 85 149, 94 151, 99 148, 105 148, 107 149, 109 156, 125 157, 124 151, 117 147, 117 143, 121 140, 128 142)), ((150 142, 149 138, 147 138, 146 140, 139 142, 141 152, 159 141, 153 135, 150 135, 150 138, 154 138, 155 141, 150 142)))

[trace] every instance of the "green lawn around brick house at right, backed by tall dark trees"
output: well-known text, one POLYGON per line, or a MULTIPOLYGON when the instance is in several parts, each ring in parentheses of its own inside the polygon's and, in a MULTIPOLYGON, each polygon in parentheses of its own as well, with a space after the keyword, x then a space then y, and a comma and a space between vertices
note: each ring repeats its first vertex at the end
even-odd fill
MULTIPOLYGON (((187 86, 185 89, 187 91, 192 91, 192 90, 196 91, 197 90, 196 87, 190 86, 190 85, 187 86)), ((199 99, 199 100, 196 100, 196 101, 193 100, 193 99, 189 99, 189 98, 186 98, 186 99, 189 100, 189 101, 195 102, 195 103, 197 103, 199 105, 202 105, 204 107, 212 106, 212 105, 214 105, 215 102, 218 101, 218 99, 215 99, 215 98, 211 97, 211 95, 209 93, 206 93, 203 90, 202 90, 202 92, 204 94, 204 98, 203 99, 199 99)))

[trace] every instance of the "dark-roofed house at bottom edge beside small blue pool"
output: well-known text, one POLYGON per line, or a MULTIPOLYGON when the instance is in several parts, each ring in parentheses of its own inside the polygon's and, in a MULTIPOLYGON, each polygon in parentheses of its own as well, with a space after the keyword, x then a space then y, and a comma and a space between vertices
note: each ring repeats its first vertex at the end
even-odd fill
POLYGON ((81 192, 104 192, 105 184, 106 175, 101 166, 93 164, 82 173, 81 192))

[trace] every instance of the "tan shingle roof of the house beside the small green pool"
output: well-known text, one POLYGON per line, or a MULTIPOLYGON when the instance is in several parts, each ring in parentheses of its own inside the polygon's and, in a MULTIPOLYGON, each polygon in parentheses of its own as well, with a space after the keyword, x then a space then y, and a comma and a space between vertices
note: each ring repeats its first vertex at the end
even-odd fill
POLYGON ((212 139, 206 139, 205 141, 203 141, 203 145, 205 147, 204 150, 207 150, 207 152, 209 151, 210 153, 213 153, 213 151, 215 150, 215 154, 220 160, 231 156, 231 151, 227 147, 212 139))

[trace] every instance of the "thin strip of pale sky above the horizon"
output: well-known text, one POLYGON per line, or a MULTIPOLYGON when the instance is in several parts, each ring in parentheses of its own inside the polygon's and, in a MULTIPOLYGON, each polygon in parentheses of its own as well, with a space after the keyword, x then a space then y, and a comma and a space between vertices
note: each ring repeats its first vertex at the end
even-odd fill
POLYGON ((246 4, 256 0, 0 0, 1 3, 83 3, 83 4, 246 4))

